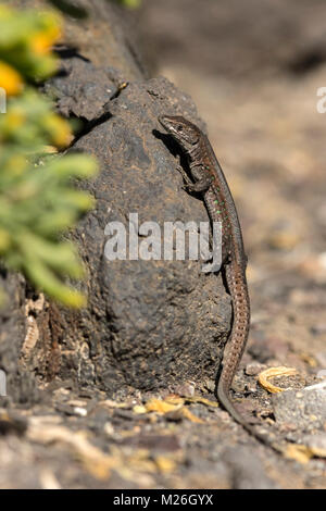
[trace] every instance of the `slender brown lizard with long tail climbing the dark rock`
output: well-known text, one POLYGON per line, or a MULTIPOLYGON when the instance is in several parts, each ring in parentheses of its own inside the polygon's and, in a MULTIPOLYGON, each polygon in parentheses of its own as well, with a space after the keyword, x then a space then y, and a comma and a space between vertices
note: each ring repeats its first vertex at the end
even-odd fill
POLYGON ((200 192, 211 222, 222 223, 222 265, 233 301, 233 327, 227 341, 227 353, 222 361, 217 383, 217 399, 230 416, 247 432, 276 451, 264 435, 252 427, 230 400, 230 387, 242 358, 250 328, 250 299, 246 278, 247 256, 236 205, 224 172, 215 157, 209 138, 193 123, 180 115, 162 115, 160 124, 174 138, 188 159, 190 176, 178 167, 186 190, 200 192))

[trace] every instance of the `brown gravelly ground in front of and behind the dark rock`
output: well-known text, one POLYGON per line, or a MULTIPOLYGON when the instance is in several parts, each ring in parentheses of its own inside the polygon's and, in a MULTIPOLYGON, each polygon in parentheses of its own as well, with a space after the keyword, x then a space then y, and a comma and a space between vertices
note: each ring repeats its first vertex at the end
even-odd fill
POLYGON ((123 399, 53 381, 1 411, 0 487, 326 487, 326 9, 259 5, 151 0, 138 29, 153 72, 195 100, 238 205, 252 326, 233 398, 283 452, 234 423, 211 379, 123 399), (272 394, 258 376, 279 366, 296 373, 272 394))

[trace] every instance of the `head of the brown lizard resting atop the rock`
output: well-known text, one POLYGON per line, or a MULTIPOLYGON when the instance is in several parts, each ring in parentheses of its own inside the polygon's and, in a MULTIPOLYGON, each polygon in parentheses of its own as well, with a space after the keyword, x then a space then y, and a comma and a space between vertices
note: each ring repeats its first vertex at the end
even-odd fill
POLYGON ((186 151, 200 138, 199 128, 180 115, 162 115, 159 122, 186 151))

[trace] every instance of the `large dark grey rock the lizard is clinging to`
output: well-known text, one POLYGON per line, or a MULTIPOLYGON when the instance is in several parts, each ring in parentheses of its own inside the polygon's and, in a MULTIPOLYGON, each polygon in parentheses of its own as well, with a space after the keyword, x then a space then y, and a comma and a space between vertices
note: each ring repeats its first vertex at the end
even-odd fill
MULTIPOLYGON (((154 221, 208 221, 201 200, 180 189, 168 138, 158 116, 180 113, 197 122, 188 96, 164 78, 129 84, 109 103, 111 117, 74 149, 95 154, 100 175, 80 186, 97 198, 72 239, 88 267, 89 306, 62 311, 64 377, 108 394, 124 385, 155 389, 180 381, 214 378, 226 339, 230 303, 222 279, 196 261, 108 261, 105 227, 129 213, 154 221)), ((106 227, 108 228, 108 227, 106 227)), ((137 232, 137 241, 142 240, 137 232)), ((60 321, 60 320, 59 320, 60 321)))

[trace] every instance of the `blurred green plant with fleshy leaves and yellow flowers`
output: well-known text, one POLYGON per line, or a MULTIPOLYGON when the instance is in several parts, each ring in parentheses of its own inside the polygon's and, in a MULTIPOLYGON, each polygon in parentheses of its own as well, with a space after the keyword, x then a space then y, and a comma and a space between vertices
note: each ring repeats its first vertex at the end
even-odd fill
POLYGON ((67 286, 83 265, 73 244, 60 240, 93 205, 72 177, 88 178, 96 161, 58 154, 72 140, 71 126, 33 86, 57 70, 51 46, 61 34, 58 16, 0 5, 0 87, 8 98, 0 113, 0 258, 39 289, 71 307, 86 298, 67 286))

